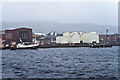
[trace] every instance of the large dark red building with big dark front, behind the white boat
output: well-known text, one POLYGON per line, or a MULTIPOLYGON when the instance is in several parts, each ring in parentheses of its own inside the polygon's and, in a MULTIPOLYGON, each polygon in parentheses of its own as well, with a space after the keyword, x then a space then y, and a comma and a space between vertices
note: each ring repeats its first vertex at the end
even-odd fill
POLYGON ((5 30, 5 42, 32 42, 32 29, 31 28, 17 28, 12 30, 5 30))

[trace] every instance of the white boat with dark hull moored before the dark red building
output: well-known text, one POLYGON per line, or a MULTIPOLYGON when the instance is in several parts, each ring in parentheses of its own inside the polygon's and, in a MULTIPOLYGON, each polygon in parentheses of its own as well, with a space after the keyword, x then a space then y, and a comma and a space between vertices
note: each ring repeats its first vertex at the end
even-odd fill
POLYGON ((22 43, 12 43, 10 46, 11 50, 15 49, 37 49, 39 46, 38 43, 32 43, 32 42, 22 42, 22 43))

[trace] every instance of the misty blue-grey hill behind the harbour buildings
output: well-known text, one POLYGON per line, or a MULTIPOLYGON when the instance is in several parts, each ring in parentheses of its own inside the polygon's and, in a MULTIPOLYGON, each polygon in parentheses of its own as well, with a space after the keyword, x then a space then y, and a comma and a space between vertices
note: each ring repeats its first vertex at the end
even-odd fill
POLYGON ((29 21, 29 22, 3 22, 3 29, 16 28, 21 26, 31 27, 34 32, 48 33, 51 31, 56 31, 62 33, 65 31, 78 31, 78 32, 99 32, 105 33, 106 29, 110 33, 117 33, 117 26, 112 25, 98 25, 91 23, 59 23, 50 21, 29 21))

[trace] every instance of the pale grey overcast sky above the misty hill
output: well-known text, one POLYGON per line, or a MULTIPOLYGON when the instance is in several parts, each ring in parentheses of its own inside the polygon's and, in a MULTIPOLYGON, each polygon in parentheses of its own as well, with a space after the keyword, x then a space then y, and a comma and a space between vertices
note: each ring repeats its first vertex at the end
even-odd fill
POLYGON ((118 24, 117 2, 4 2, 2 9, 4 22, 118 24))

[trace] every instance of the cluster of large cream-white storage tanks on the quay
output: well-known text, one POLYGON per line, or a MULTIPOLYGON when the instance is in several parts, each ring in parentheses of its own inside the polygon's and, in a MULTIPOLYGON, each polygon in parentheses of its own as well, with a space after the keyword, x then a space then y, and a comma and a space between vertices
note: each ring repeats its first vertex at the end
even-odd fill
POLYGON ((99 43, 99 33, 64 32, 63 36, 56 37, 56 43, 99 43))

